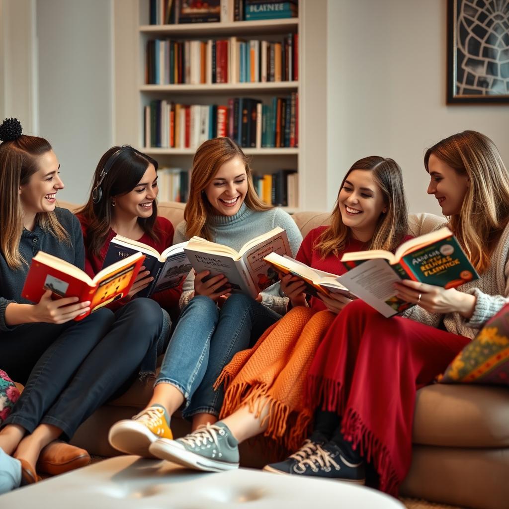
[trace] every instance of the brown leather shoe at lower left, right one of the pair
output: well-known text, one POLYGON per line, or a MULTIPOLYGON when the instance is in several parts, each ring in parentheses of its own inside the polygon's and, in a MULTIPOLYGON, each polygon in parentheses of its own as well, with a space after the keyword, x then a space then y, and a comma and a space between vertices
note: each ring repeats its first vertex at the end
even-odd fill
POLYGON ((61 440, 54 440, 41 450, 37 470, 50 475, 63 474, 69 470, 80 468, 90 463, 90 455, 61 440))

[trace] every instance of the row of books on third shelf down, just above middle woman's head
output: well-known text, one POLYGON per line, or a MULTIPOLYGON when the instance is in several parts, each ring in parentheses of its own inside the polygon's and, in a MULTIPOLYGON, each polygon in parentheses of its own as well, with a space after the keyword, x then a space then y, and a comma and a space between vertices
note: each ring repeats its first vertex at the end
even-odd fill
POLYGON ((196 149, 207 139, 229 136, 241 147, 298 147, 298 94, 270 104, 247 97, 228 105, 153 100, 145 106, 145 146, 196 149))

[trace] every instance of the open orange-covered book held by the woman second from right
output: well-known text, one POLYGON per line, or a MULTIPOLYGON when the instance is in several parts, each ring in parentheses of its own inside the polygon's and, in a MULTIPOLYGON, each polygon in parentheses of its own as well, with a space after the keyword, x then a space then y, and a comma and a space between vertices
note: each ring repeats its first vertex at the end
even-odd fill
POLYGON ((338 280, 337 274, 324 272, 323 270, 314 269, 308 265, 298 262, 289 256, 280 256, 272 252, 265 257, 265 262, 274 267, 274 269, 282 274, 293 274, 304 282, 304 293, 318 297, 318 294, 329 295, 331 293, 341 293, 349 299, 355 296, 350 293, 348 288, 343 286, 338 280))

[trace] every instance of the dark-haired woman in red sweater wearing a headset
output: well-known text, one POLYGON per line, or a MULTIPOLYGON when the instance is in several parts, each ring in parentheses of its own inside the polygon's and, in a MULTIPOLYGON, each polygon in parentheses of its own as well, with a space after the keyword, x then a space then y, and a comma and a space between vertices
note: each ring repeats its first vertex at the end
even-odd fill
MULTIPOLYGON (((109 243, 115 235, 143 242, 158 252, 173 243, 170 221, 157 215, 157 161, 130 146, 112 147, 97 165, 89 200, 76 215, 81 223, 85 245, 85 271, 93 277, 102 269, 109 243)), ((153 277, 142 267, 126 298, 108 305, 117 310, 138 292, 145 290, 153 277)), ((162 308, 164 326, 157 351, 149 352, 140 374, 152 374, 156 356, 162 353, 169 335, 169 312, 178 307, 182 286, 152 294, 162 308)))

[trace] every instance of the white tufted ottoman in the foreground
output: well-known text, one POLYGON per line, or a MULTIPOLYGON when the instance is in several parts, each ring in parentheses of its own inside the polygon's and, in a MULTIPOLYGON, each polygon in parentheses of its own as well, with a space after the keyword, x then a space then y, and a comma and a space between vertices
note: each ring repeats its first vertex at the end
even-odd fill
POLYGON ((2 509, 403 509, 396 499, 349 483, 239 469, 185 470, 119 456, 0 496, 2 509))

